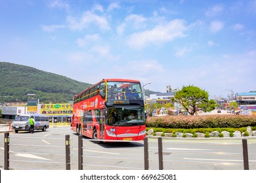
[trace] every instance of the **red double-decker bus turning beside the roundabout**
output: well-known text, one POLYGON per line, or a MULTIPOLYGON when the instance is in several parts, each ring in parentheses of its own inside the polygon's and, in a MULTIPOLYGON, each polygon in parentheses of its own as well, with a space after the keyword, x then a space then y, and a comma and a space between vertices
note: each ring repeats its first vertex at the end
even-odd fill
POLYGON ((74 96, 72 130, 91 139, 140 141, 146 135, 140 82, 103 79, 74 96))

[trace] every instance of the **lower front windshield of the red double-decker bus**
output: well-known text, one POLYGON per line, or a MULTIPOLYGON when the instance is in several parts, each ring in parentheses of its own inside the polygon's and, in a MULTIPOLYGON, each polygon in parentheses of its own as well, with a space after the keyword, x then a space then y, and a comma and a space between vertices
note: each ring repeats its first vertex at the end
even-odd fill
POLYGON ((108 108, 106 125, 131 126, 144 125, 144 112, 142 107, 112 107, 108 108))

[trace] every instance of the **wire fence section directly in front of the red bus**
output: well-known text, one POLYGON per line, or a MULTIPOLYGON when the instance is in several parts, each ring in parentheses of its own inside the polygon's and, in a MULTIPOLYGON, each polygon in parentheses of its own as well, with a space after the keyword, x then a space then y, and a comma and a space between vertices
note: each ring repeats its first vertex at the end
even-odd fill
MULTIPOLYGON (((121 160, 128 160, 128 161, 136 161, 137 165, 143 165, 143 161, 145 162, 145 169, 146 169, 146 164, 148 164, 148 159, 145 159, 146 156, 144 156, 143 158, 143 153, 141 150, 132 150, 132 151, 138 151, 138 156, 140 154, 140 156, 142 156, 142 158, 130 158, 129 155, 124 155, 124 152, 129 152, 131 150, 118 150, 117 148, 114 148, 113 151, 113 156, 87 156, 84 154, 85 151, 89 150, 89 151, 96 151, 97 148, 88 148, 88 147, 84 147, 83 146, 83 142, 85 141, 92 141, 95 143, 99 143, 102 142, 102 140, 95 140, 95 139, 83 139, 82 135, 79 135, 78 137, 78 169, 79 170, 83 170, 84 166, 96 166, 96 167, 106 167, 106 168, 112 168, 112 169, 143 169, 143 167, 129 167, 129 166, 124 166, 124 165, 108 165, 106 164, 106 159, 121 159, 121 160), (120 152, 123 151, 123 152, 120 152), (121 156, 117 156, 117 152, 121 153, 121 156), (116 156, 114 156, 116 155, 116 156), (93 159, 104 159, 104 161, 100 161, 100 162, 104 162, 105 164, 95 164, 93 163, 93 159), (86 162, 86 163, 85 163, 86 162), (90 163, 91 162, 91 163, 90 163)), ((114 141, 114 140, 104 140, 104 142, 106 143, 112 143, 112 142, 118 142, 118 143, 125 143, 125 142, 135 142, 135 141, 114 141)), ((144 146, 145 148, 145 146, 144 146)), ((106 149, 107 150, 107 149, 106 149)), ((108 150, 111 150, 111 148, 108 148, 108 150)), ((148 150, 146 150, 146 152, 148 152, 148 150)), ((111 152, 110 152, 111 153, 111 152)))

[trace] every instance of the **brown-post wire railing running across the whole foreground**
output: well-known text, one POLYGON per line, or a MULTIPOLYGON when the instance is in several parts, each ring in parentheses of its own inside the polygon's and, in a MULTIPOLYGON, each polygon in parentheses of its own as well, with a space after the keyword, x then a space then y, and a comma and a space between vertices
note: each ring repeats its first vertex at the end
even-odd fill
MULTIPOLYGON (((20 139, 55 139, 55 140, 63 140, 63 138, 50 138, 50 137, 24 137, 24 136, 15 136, 12 138, 20 138, 20 139)), ((149 170, 150 168, 154 169, 171 169, 173 168, 173 165, 175 163, 184 163, 184 165, 191 165, 191 164, 203 164, 203 165, 230 165, 230 166, 241 166, 244 167, 244 170, 249 170, 250 166, 253 166, 252 164, 249 164, 249 156, 253 156, 252 154, 248 154, 248 146, 247 146, 247 139, 242 139, 242 143, 224 143, 224 142, 202 142, 202 141, 175 141, 175 140, 167 140, 163 141, 161 137, 157 139, 157 145, 156 140, 154 139, 154 147, 150 146, 149 140, 151 141, 150 137, 145 137, 144 141, 142 142, 142 148, 131 148, 131 149, 125 149, 125 148, 110 148, 111 142, 136 142, 136 141, 109 141, 104 140, 106 142, 104 146, 106 148, 103 148, 104 152, 108 152, 105 155, 102 152, 99 152, 98 149, 102 150, 100 148, 100 145, 94 146, 93 143, 90 143, 89 146, 87 146, 87 142, 101 142, 102 140, 94 140, 94 139, 83 139, 83 136, 78 136, 78 149, 77 149, 77 155, 78 155, 78 170, 85 169, 91 169, 91 167, 100 167, 101 169, 144 169, 149 170), (202 149, 194 149, 194 150, 186 150, 186 143, 194 143, 198 146, 203 145, 209 145, 212 146, 229 146, 228 148, 225 148, 226 151, 234 149, 236 147, 236 150, 232 150, 232 152, 226 152, 223 151, 223 148, 220 148, 221 152, 218 152, 217 150, 202 150, 202 149), (85 144, 85 146, 83 146, 85 144), (182 146, 183 148, 175 148, 177 146, 182 146), (240 148, 241 146, 241 148, 240 148), (110 151, 110 152, 109 152, 110 151), (129 151, 137 151, 136 156, 131 156, 129 151), (89 154, 89 152, 92 152, 93 154, 89 154), (95 153, 96 152, 96 153, 95 153), (120 152, 120 154, 117 154, 117 152, 120 152), (126 154, 125 154, 126 153, 126 154), (102 155, 104 154, 104 155, 102 155), (186 157, 185 154, 193 154, 190 158, 184 158, 186 157), (179 155, 179 156, 178 156, 179 155), (202 161, 199 161, 197 159, 197 156, 199 156, 198 159, 201 158, 202 161), (218 159, 218 161, 213 161, 213 159, 207 159, 211 157, 224 157, 223 159, 218 159), (202 158, 203 157, 203 158, 202 158), (241 163, 229 163, 232 162, 232 159, 228 159, 230 157, 236 157, 236 162, 241 163), (205 158, 205 159, 204 159, 205 158), (99 160, 99 159, 102 159, 99 160), (119 160, 120 159, 120 160, 119 160), (118 161, 117 161, 118 160, 118 161), (197 161, 198 160, 198 161, 197 161), (209 160, 209 161, 207 161, 209 160), (106 164, 108 161, 108 164, 106 164), (117 162, 116 162, 117 161, 117 162), (135 161, 136 163, 131 163, 135 161), (104 163, 102 163, 104 162, 104 163), (123 165, 123 162, 125 165, 123 165), (157 163, 156 163, 157 162, 157 163), (169 166, 169 163, 171 163, 171 167, 169 166), (131 165, 131 166, 129 166, 131 165), (137 165, 141 165, 138 166, 137 165), (144 167, 143 167, 144 165, 144 167), (156 167, 158 165, 158 167, 156 167), (167 166, 168 165, 168 166, 167 166)), ((13 144, 10 142, 10 136, 9 133, 5 133, 4 137, 4 169, 23 169, 23 167, 12 167, 11 162, 18 161, 18 162, 27 162, 27 163, 62 163, 66 166, 66 170, 70 170, 70 165, 73 164, 70 161, 70 135, 66 135, 64 139, 64 146, 53 146, 53 145, 40 145, 40 144, 13 144), (32 146, 35 148, 64 148, 64 154, 56 154, 50 152, 14 152, 10 150, 10 147, 14 146, 32 146), (26 152, 26 153, 25 153, 26 152), (32 154, 32 155, 43 155, 43 156, 64 156, 65 162, 60 162, 58 159, 57 161, 28 161, 25 159, 15 159, 11 154, 32 154)), ((15 150, 15 148, 13 148, 15 150)), ((33 149, 32 149, 33 150, 33 149)), ((73 159, 74 161, 74 159, 73 159)), ((200 167, 202 169, 203 167, 200 167)), ((210 169, 213 169, 213 167, 208 167, 210 169)), ((188 169, 188 167, 185 167, 185 169, 188 169)))

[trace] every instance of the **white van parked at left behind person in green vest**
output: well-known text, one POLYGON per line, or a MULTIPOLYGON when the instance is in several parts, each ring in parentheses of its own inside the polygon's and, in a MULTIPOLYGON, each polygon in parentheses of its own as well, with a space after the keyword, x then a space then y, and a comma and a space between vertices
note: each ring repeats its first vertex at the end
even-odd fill
POLYGON ((30 131, 30 117, 33 116, 35 120, 35 130, 46 131, 49 128, 49 117, 42 114, 22 114, 12 122, 11 128, 15 130, 15 133, 18 131, 30 131))

